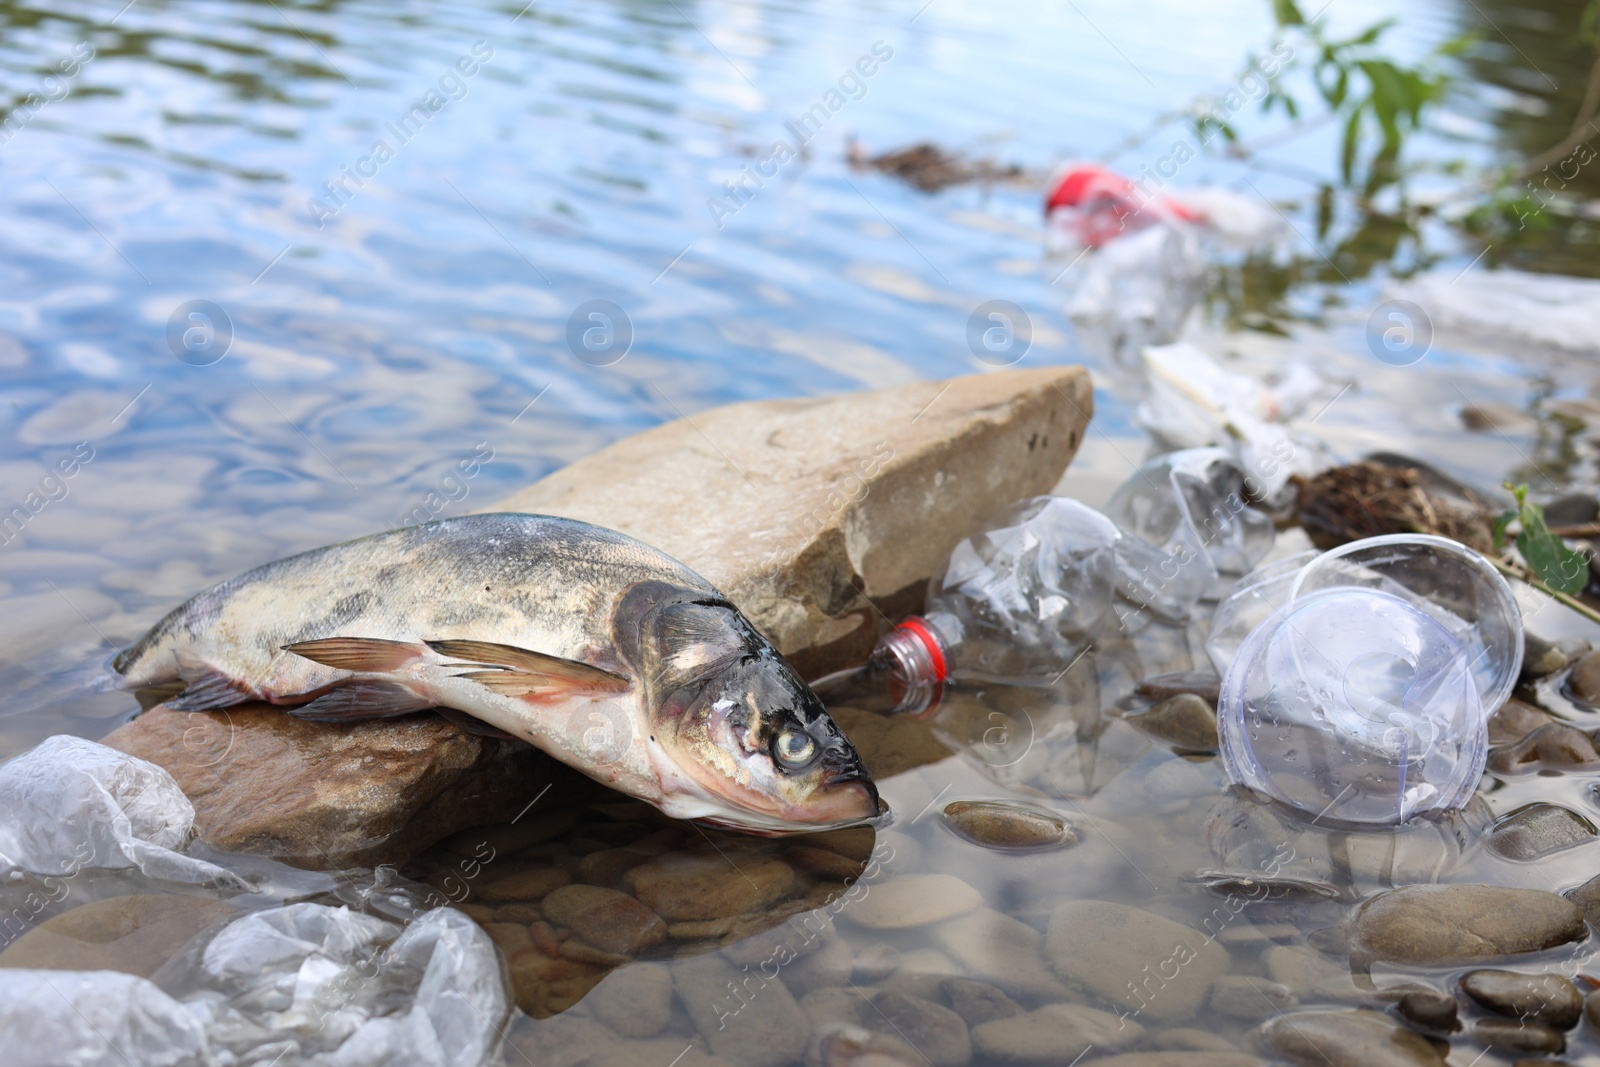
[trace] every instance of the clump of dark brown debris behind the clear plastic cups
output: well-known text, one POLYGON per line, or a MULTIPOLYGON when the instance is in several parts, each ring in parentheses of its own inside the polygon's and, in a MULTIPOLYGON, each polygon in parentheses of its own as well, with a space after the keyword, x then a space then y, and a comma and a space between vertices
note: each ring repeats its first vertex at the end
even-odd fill
POLYGON ((1416 467, 1370 461, 1331 467, 1314 478, 1296 478, 1299 522, 1318 549, 1328 550, 1395 533, 1451 537, 1486 555, 1494 553, 1494 515, 1478 499, 1446 496, 1416 467))

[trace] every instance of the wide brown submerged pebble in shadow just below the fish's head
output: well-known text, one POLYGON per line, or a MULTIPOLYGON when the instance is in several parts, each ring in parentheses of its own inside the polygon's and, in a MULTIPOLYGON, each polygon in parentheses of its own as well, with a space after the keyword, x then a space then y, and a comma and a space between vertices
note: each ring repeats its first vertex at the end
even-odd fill
POLYGON ((794 880, 794 869, 781 859, 746 854, 734 864, 717 853, 669 853, 622 875, 645 907, 674 923, 763 910, 794 880))

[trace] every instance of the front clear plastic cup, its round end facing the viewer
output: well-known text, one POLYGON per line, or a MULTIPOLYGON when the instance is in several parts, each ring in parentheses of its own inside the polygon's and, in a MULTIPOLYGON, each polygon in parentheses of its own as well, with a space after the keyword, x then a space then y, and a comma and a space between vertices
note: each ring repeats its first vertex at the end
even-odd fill
POLYGON ((1229 777, 1328 824, 1462 806, 1486 718, 1467 646, 1414 598, 1371 587, 1291 598, 1245 638, 1218 701, 1229 777))

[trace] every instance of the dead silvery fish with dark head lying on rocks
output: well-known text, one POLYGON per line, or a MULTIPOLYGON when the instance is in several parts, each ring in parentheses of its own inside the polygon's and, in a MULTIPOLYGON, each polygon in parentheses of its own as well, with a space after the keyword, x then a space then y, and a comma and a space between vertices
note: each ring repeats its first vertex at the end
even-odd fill
POLYGON ((213 585, 112 661, 166 705, 350 723, 426 709, 544 749, 666 814, 802 833, 880 814, 816 694, 704 577, 621 533, 467 515, 213 585))

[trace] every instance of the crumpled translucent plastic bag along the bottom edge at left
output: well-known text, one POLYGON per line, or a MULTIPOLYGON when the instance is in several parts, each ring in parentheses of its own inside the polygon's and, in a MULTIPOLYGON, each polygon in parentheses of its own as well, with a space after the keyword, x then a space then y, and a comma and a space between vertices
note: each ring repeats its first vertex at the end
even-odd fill
POLYGON ((222 928, 168 989, 114 971, 0 969, 6 1067, 475 1067, 509 1013, 499 957, 453 909, 403 931, 322 904, 222 928))

